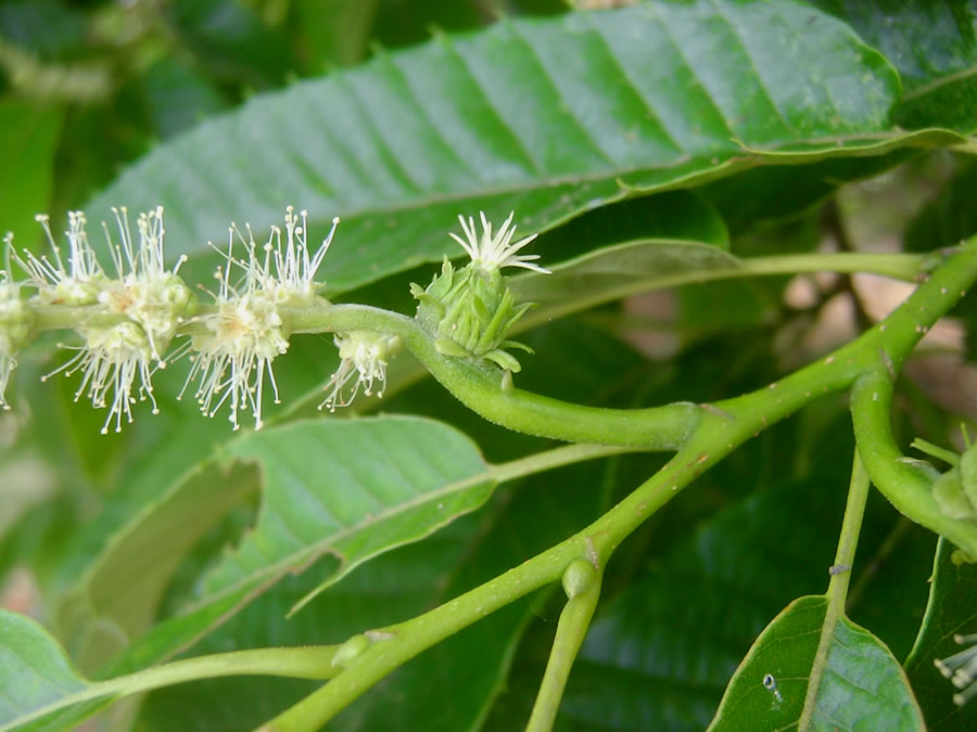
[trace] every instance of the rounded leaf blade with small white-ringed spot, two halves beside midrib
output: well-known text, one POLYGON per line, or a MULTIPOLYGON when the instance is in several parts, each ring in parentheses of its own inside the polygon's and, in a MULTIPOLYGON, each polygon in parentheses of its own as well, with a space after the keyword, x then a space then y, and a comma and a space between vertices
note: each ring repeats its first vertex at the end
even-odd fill
MULTIPOLYGON (((800 598, 753 643, 729 681, 710 730, 786 729, 798 723, 828 601, 800 598)), ((924 730, 909 682, 889 650, 841 617, 813 714, 804 729, 924 730)))

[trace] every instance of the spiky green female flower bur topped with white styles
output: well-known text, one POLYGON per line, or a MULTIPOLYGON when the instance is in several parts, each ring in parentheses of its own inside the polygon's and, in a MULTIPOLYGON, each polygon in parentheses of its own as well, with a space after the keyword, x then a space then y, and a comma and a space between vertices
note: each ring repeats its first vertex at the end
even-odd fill
POLYGON ((503 267, 521 267, 543 274, 548 274, 549 270, 533 264, 538 255, 517 254, 536 234, 512 244, 516 233, 516 227, 510 228, 512 217, 513 214, 509 214, 493 235, 492 224, 482 213, 480 240, 474 219, 466 221, 459 216, 466 239, 454 233, 451 236, 468 253, 471 261, 455 270, 445 257, 441 274, 426 290, 411 284, 410 292, 419 300, 417 319, 436 337, 435 346, 441 352, 459 358, 486 359, 507 371, 518 372, 521 368, 519 361, 503 348, 522 348, 529 352, 532 349, 507 341, 506 334, 534 304, 517 305, 499 270, 503 267))

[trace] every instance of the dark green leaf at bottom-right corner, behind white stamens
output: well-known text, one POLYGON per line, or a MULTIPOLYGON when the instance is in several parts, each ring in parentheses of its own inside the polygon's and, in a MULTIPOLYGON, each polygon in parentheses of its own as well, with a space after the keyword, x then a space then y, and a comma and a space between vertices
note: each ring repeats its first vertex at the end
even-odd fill
POLYGON ((963 650, 953 641, 956 633, 977 632, 977 565, 955 564, 952 543, 940 538, 934 557, 929 603, 905 672, 923 708, 930 730, 964 732, 977 725, 977 705, 953 703, 955 689, 937 670, 934 662, 963 650))

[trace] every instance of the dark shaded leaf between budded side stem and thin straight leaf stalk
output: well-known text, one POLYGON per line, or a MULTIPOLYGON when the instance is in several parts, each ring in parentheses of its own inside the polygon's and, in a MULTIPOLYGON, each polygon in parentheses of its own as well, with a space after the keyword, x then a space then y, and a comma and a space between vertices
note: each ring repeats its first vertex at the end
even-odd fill
MULTIPOLYGON (((834 485, 843 484, 779 484, 690 535, 668 512, 656 516, 652 537, 674 530, 681 538, 663 556, 646 548, 636 560, 644 572, 598 607, 567 684, 562 723, 705 729, 749 639, 791 598, 823 586, 834 551, 825 527, 837 525, 843 500, 827 488, 834 485)), ((714 501, 712 495, 689 500, 714 501)))

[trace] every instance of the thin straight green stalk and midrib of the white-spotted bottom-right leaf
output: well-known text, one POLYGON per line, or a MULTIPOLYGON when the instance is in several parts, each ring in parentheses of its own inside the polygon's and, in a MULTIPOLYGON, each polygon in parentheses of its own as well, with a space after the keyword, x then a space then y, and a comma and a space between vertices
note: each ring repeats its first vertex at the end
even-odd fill
POLYGON ((827 590, 828 604, 825 609, 824 624, 821 627, 821 639, 814 654, 814 663, 811 667, 803 710, 797 723, 798 732, 811 729, 811 721, 814 719, 817 706, 817 693, 821 690, 821 678, 827 668, 832 643, 835 640, 835 629, 845 616, 845 601, 848 596, 851 567, 854 564, 855 549, 859 545, 859 534, 862 530, 862 518, 865 515, 865 502, 868 500, 870 487, 868 474, 859 459, 859 450, 855 449, 851 466, 851 483, 848 488, 848 503, 845 506, 845 518, 841 519, 841 535, 838 537, 835 564, 830 569, 832 578, 827 590))

